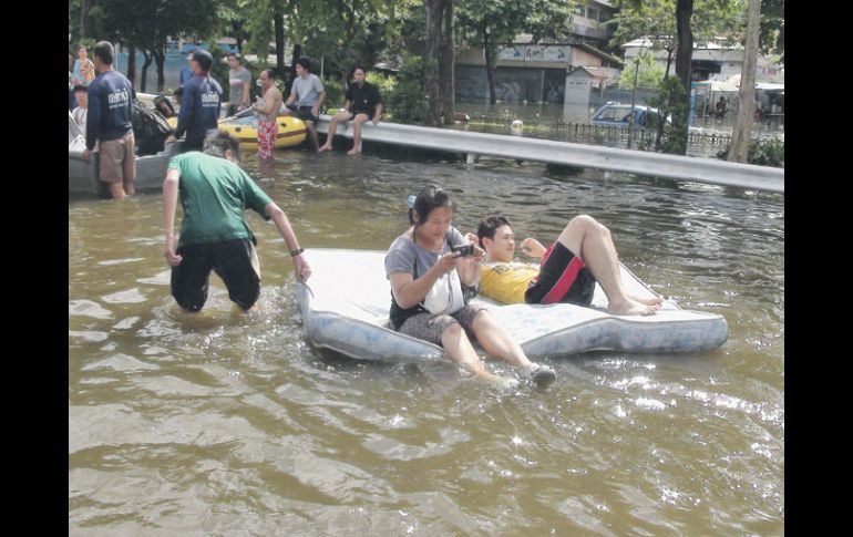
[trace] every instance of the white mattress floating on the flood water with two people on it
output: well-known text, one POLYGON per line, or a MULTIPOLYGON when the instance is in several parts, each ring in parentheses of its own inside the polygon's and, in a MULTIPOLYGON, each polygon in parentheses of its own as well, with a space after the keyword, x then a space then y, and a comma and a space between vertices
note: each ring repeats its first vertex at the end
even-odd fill
MULTIPOLYGON (((306 250, 312 275, 296 295, 308 340, 361 360, 421 362, 443 360, 444 351, 389 328, 391 287, 384 251, 306 250)), ((655 293, 623 266, 629 292, 655 293)), ((500 304, 481 297, 489 310, 531 359, 593 350, 699 352, 720 347, 728 337, 722 316, 680 309, 667 300, 649 317, 607 313, 607 297, 596 285, 592 308, 573 304, 500 304)))

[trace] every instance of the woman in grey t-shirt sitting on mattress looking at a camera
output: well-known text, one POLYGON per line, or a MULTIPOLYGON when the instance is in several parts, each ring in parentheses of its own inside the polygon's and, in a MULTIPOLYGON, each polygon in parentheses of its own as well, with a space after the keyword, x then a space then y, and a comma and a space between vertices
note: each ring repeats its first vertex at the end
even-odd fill
POLYGON ((391 327, 407 335, 444 348, 448 357, 474 375, 495 383, 516 384, 486 371, 469 340, 473 335, 492 357, 528 372, 537 384, 549 384, 556 373, 547 365, 531 362, 522 348, 482 306, 465 304, 453 313, 430 313, 423 302, 435 282, 458 271, 459 281, 475 286, 480 281, 483 250, 473 255, 452 251, 465 244, 451 224, 455 205, 448 193, 428 186, 409 208, 412 227, 399 236, 386 255, 386 276, 391 281, 391 327))

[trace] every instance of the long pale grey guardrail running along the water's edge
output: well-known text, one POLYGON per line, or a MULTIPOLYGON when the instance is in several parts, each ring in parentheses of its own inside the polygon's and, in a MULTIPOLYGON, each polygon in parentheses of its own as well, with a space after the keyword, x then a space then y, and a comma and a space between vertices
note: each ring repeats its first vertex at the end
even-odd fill
MULTIPOLYGON (((331 116, 329 115, 320 115, 317 132, 326 134, 330 118, 331 116)), ((338 125, 336 134, 351 138, 352 122, 338 125)), ((368 142, 423 147, 465 155, 490 155, 511 159, 563 164, 784 194, 783 168, 736 164, 712 158, 665 155, 618 147, 602 147, 597 145, 572 144, 549 140, 386 122, 381 122, 379 125, 373 125, 371 122, 364 123, 361 138, 368 142)), ((471 156, 467 157, 469 162, 471 162, 471 156)))

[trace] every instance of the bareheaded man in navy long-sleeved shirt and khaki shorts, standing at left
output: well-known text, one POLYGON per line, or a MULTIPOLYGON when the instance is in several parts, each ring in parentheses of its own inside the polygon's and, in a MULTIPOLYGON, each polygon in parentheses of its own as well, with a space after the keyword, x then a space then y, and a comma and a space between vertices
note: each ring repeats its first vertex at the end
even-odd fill
POLYGON ((86 114, 86 148, 83 161, 99 143, 99 178, 110 185, 113 199, 133 194, 136 161, 133 152, 131 102, 133 87, 124 75, 113 70, 115 51, 107 41, 95 45, 95 71, 101 73, 89 84, 86 114))

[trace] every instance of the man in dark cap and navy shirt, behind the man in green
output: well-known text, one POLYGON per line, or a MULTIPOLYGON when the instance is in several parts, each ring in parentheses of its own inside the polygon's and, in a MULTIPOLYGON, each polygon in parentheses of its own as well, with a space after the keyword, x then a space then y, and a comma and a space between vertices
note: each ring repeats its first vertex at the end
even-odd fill
POLYGON ((181 148, 202 151, 207 131, 216 128, 222 110, 223 89, 209 73, 213 56, 206 50, 198 49, 191 62, 195 75, 186 81, 181 97, 181 112, 177 116, 175 134, 166 138, 166 143, 177 142, 186 133, 186 141, 181 148))

